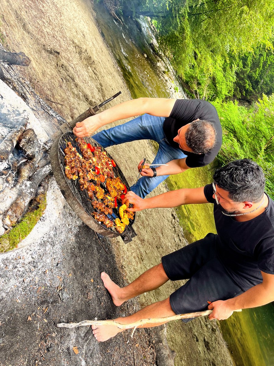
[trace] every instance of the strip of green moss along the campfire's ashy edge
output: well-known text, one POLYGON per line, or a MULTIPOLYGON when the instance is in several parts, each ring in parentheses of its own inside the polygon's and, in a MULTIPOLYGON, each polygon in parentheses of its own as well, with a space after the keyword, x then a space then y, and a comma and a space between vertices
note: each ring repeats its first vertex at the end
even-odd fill
POLYGON ((17 248, 18 244, 30 234, 46 209, 46 193, 39 200, 37 209, 29 210, 15 227, 7 234, 0 236, 0 253, 17 248))

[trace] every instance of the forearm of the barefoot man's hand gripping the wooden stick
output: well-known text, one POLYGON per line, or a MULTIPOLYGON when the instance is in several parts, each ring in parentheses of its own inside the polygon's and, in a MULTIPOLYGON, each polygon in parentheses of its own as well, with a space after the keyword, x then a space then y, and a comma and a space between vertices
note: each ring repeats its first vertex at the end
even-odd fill
POLYGON ((271 291, 271 289, 266 287, 263 283, 251 287, 249 290, 233 299, 225 300, 226 305, 233 311, 262 306, 272 301, 274 301, 273 289, 271 291))

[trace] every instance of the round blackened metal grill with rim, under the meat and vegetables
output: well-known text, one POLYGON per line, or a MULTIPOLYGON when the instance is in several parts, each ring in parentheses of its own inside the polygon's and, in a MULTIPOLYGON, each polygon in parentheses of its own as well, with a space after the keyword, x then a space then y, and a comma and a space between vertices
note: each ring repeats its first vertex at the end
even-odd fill
MULTIPOLYGON (((65 128, 66 130, 66 128, 65 128)), ((67 129, 69 130, 69 128, 67 129)), ((63 131, 65 132, 65 131, 63 131)), ((116 236, 121 235, 121 238, 124 242, 130 242, 134 236, 136 236, 135 231, 132 228, 132 224, 134 223, 134 219, 129 219, 129 225, 126 225, 125 230, 122 232, 122 234, 119 234, 114 227, 107 228, 106 225, 103 223, 99 223, 96 221, 92 215, 92 212, 99 212, 98 209, 94 209, 91 204, 91 199, 88 196, 87 190, 80 190, 78 179, 72 180, 66 178, 65 175, 65 153, 64 149, 67 145, 67 142, 71 142, 72 146, 76 147, 79 154, 81 154, 81 151, 75 141, 75 136, 71 131, 65 132, 59 139, 56 139, 52 145, 52 152, 51 157, 51 163, 52 163, 52 169, 53 174, 56 179, 56 182, 61 190, 62 195, 65 197, 68 204, 71 206, 73 211, 80 217, 81 220, 84 221, 85 224, 87 224, 91 229, 98 232, 98 234, 101 234, 103 236, 109 236, 110 238, 115 238, 116 236)), ((106 151, 98 142, 96 142, 91 137, 85 137, 85 141, 87 143, 91 143, 93 146, 99 146, 102 151, 106 151)), ((109 155, 110 158, 112 158, 109 155)), ((115 161, 115 160, 114 160, 115 161)), ((125 186, 129 190, 129 184, 126 181, 125 176, 123 175, 121 169, 116 165, 115 168, 113 168, 115 178, 119 177, 121 178, 122 182, 125 184, 125 186)), ((102 187, 107 193, 106 184, 101 183, 100 187, 102 187)), ((100 199, 94 198, 93 200, 102 201, 100 199)), ((121 202, 118 203, 118 208, 113 209, 112 215, 107 215, 109 219, 115 220, 117 218, 120 218, 118 209, 122 205, 121 202)))

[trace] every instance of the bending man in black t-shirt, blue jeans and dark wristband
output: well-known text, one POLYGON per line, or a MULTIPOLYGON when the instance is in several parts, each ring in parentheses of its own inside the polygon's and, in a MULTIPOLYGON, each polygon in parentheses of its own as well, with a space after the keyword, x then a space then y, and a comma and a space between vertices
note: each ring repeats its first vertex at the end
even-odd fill
POLYGON ((93 138, 103 147, 144 139, 159 144, 152 164, 168 166, 142 169, 142 178, 130 187, 142 198, 169 175, 211 163, 220 150, 222 128, 216 108, 200 99, 133 99, 77 123, 73 132, 77 137, 89 136, 106 124, 136 115, 141 116, 93 138))

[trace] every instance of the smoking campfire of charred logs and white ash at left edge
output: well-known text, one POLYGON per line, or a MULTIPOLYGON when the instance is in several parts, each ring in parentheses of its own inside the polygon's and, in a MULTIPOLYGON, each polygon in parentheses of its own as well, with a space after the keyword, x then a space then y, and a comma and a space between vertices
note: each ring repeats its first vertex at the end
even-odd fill
POLYGON ((28 127, 26 113, 0 104, 0 235, 24 216, 51 172, 47 150, 52 140, 42 143, 28 127))

